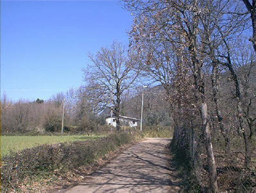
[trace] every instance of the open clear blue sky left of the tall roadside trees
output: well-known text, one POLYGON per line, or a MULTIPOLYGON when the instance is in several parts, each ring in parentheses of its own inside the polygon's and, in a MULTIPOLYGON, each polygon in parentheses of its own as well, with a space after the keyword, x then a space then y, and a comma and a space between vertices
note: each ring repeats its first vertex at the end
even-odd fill
POLYGON ((1 1, 1 96, 33 101, 79 87, 86 53, 128 44, 131 24, 120 1, 1 1))

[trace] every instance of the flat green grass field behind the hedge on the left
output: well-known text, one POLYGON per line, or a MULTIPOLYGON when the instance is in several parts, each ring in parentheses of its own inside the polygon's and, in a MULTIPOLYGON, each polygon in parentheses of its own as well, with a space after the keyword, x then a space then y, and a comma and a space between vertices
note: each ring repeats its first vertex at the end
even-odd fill
POLYGON ((100 137, 104 136, 1 136, 1 155, 3 156, 8 154, 10 150, 12 150, 13 152, 19 152, 24 148, 31 148, 46 143, 49 144, 67 141, 81 141, 100 137))

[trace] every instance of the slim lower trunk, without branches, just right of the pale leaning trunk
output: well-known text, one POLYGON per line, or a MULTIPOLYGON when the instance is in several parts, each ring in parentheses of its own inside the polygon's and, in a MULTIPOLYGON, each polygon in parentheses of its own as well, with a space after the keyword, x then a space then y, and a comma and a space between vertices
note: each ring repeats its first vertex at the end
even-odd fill
POLYGON ((221 116, 220 110, 220 100, 219 100, 219 93, 220 93, 220 73, 218 69, 218 64, 216 62, 212 62, 212 94, 213 100, 215 104, 216 115, 218 117, 218 123, 220 126, 221 134, 225 140, 225 153, 230 153, 230 138, 228 136, 227 129, 224 128, 223 124, 223 117, 221 116))

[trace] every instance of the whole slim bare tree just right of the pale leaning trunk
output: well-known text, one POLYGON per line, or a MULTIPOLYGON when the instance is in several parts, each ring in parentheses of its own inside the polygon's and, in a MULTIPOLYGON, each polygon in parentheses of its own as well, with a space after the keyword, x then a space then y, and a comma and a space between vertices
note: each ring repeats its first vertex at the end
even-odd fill
MULTIPOLYGON (((205 2, 204 14, 200 14, 200 38, 202 39, 202 54, 209 59, 212 83, 212 98, 221 134, 225 139, 225 152, 230 151, 230 137, 228 125, 223 120, 223 112, 220 108, 220 62, 218 56, 223 45, 223 39, 232 39, 234 34, 243 30, 244 17, 237 17, 236 6, 230 2, 218 0, 205 2), (231 7, 231 8, 230 8, 231 7), (232 13, 234 12, 234 13, 232 13), (228 14, 228 17, 227 17, 228 14)), ((221 50, 222 51, 222 50, 221 50)))

